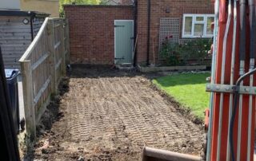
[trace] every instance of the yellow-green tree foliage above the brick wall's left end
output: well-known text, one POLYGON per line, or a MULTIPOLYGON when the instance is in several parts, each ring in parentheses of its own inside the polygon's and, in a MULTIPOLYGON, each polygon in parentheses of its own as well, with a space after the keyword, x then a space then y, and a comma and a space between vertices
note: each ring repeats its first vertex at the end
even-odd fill
POLYGON ((60 17, 64 17, 63 5, 99 5, 100 3, 101 0, 59 0, 59 14, 60 17))

